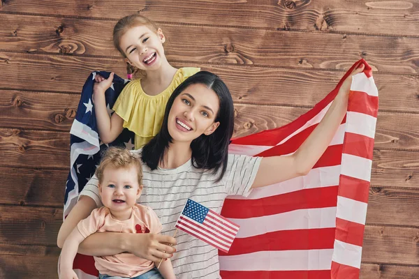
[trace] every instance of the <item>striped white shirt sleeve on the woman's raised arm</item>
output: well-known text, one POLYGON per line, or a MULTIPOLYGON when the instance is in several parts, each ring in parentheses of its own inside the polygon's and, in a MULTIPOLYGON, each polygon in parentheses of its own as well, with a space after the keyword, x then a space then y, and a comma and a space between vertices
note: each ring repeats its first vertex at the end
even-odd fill
POLYGON ((226 188, 228 195, 247 197, 258 173, 262 157, 229 154, 226 169, 226 188))

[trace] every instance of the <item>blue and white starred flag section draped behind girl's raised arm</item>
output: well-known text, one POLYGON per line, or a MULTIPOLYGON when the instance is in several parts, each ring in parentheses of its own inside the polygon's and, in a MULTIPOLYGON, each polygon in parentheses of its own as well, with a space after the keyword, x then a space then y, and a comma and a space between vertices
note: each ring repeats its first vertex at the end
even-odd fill
MULTIPOLYGON (((70 130, 70 164, 71 169, 66 183, 66 193, 64 197, 64 217, 73 208, 77 202, 79 193, 84 185, 93 176, 96 166, 101 160, 101 151, 108 146, 126 146, 133 149, 134 134, 124 129, 112 142, 112 144, 103 144, 99 140, 98 127, 96 124, 96 115, 93 106, 93 85, 96 74, 108 78, 110 73, 94 72, 87 77, 80 96, 77 114, 70 130)), ((110 89, 105 92, 105 101, 108 114, 112 114, 112 107, 129 80, 124 80, 117 75, 114 76, 110 89)))

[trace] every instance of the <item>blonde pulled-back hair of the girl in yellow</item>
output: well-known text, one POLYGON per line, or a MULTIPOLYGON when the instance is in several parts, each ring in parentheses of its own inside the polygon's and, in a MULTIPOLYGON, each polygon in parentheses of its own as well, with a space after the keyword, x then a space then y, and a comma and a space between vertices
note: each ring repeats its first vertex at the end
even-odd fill
MULTIPOLYGON (((122 50, 122 48, 120 47, 121 38, 122 36, 124 36, 124 33, 128 31, 128 29, 138 26, 146 26, 155 33, 157 33, 157 30, 159 30, 159 27, 157 27, 157 24, 155 22, 149 20, 147 17, 143 15, 138 14, 127 15, 126 17, 122 17, 122 19, 118 20, 117 24, 115 24, 113 31, 113 43, 115 48, 122 54, 122 56, 124 56, 124 58, 126 58, 126 54, 124 50, 122 50)), ((128 62, 126 63, 126 73, 128 75, 136 73, 137 70, 138 69, 131 66, 128 62)))

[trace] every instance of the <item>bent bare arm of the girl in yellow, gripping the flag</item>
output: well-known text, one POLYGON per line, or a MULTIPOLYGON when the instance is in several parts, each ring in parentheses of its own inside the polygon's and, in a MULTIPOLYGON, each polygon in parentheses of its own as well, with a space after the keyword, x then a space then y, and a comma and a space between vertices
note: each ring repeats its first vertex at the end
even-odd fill
POLYGON ((109 117, 105 101, 105 91, 111 86, 114 74, 111 73, 108 79, 96 75, 93 86, 93 103, 98 124, 99 137, 103 143, 113 142, 124 130, 124 119, 114 113, 109 117))

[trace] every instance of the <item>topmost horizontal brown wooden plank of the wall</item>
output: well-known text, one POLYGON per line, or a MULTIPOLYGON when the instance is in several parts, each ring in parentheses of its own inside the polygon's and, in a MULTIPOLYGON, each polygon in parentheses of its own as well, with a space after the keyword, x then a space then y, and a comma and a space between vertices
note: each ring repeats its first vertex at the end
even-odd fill
POLYGON ((157 22, 417 36, 419 4, 406 1, 3 1, 3 12, 118 19, 139 12, 157 22), (112 10, 112 12, 110 12, 112 10), (379 24, 378 24, 379 23, 379 24))

